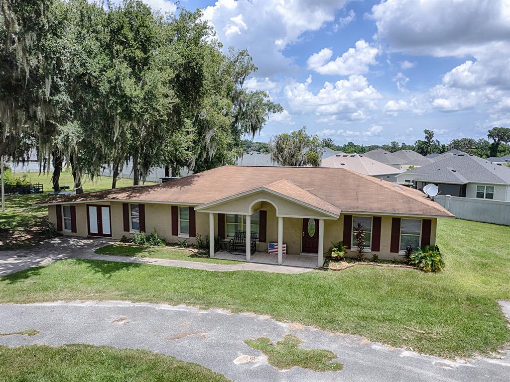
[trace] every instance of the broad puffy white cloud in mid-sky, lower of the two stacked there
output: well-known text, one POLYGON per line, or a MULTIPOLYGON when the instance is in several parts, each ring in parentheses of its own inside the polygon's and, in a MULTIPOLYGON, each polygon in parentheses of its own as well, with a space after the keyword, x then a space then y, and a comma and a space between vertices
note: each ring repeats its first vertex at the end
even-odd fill
POLYGON ((310 91, 312 76, 304 83, 292 83, 284 93, 291 110, 296 114, 313 113, 318 122, 363 121, 367 113, 377 109, 381 95, 362 75, 351 75, 335 84, 325 82, 316 94, 310 91))

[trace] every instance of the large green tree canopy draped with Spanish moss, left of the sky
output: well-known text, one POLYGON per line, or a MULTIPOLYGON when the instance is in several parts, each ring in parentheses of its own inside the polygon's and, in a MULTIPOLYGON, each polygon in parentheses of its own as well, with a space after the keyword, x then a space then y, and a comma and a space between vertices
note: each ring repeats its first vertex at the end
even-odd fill
POLYGON ((66 163, 75 188, 132 161, 134 184, 231 164, 242 137, 282 106, 244 88, 247 51, 222 52, 200 10, 152 11, 141 0, 0 0, 0 153, 66 163))

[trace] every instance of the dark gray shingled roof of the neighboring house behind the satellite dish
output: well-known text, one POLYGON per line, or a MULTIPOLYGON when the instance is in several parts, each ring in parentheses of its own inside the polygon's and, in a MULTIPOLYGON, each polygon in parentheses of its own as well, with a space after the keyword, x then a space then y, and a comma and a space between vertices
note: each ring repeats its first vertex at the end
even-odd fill
POLYGON ((510 168, 471 154, 453 154, 403 174, 418 175, 414 180, 432 182, 510 184, 510 168))

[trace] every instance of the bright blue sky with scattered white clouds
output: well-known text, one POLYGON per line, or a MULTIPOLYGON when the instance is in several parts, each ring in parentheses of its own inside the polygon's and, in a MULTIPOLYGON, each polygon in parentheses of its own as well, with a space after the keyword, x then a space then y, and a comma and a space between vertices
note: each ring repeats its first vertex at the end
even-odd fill
MULTIPOLYGON (((143 0, 174 11, 166 0, 143 0)), ((247 48, 246 84, 285 112, 260 137, 307 126, 348 141, 448 142, 510 127, 510 2, 220 0, 202 8, 225 49, 247 48)))

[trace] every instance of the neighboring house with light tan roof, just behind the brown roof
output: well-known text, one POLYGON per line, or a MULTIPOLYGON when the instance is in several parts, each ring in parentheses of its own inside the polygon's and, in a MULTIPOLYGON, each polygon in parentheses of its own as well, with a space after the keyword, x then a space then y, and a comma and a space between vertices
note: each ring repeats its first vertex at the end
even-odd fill
POLYGON ((385 165, 385 163, 378 162, 377 160, 360 154, 336 154, 326 159, 322 159, 321 167, 335 167, 339 169, 352 170, 360 174, 384 179, 389 182, 396 182, 396 176, 401 173, 400 170, 397 170, 394 167, 385 165))

